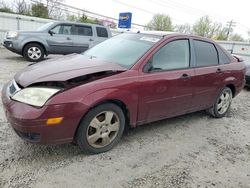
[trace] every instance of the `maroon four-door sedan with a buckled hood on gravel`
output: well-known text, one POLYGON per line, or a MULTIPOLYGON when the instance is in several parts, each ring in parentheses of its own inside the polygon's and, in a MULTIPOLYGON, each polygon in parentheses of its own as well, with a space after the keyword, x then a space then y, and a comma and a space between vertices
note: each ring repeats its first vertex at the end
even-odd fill
POLYGON ((28 66, 5 85, 2 101, 21 138, 75 141, 100 153, 126 126, 205 109, 223 117, 244 78, 245 65, 209 39, 126 33, 84 54, 28 66))

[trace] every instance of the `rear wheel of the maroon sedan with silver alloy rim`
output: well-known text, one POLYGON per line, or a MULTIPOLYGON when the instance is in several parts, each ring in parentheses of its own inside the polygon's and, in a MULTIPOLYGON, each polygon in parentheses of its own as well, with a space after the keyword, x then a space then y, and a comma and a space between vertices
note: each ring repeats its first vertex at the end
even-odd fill
POLYGON ((217 97, 215 104, 208 109, 208 112, 216 118, 224 117, 228 112, 233 99, 232 90, 225 87, 217 97))

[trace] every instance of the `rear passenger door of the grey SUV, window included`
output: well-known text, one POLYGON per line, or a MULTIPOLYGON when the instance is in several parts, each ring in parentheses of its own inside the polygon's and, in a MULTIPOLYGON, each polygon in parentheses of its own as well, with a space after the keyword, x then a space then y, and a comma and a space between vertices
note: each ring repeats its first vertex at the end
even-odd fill
POLYGON ((74 25, 73 29, 73 49, 76 53, 86 51, 94 42, 93 27, 90 25, 74 25))

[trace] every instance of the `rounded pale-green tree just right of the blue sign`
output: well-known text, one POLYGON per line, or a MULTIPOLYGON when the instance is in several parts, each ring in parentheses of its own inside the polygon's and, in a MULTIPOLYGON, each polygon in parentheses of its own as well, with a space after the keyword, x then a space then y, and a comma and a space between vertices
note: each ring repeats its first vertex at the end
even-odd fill
POLYGON ((156 31, 173 31, 172 20, 168 15, 156 14, 146 25, 146 29, 156 31))

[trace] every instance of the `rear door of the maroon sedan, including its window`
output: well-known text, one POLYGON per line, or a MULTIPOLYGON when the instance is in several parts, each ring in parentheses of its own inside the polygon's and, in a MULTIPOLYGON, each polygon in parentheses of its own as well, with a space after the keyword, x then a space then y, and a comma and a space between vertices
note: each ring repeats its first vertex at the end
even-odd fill
POLYGON ((224 70, 213 43, 193 39, 192 44, 195 55, 192 109, 203 110, 213 105, 222 87, 224 70))

